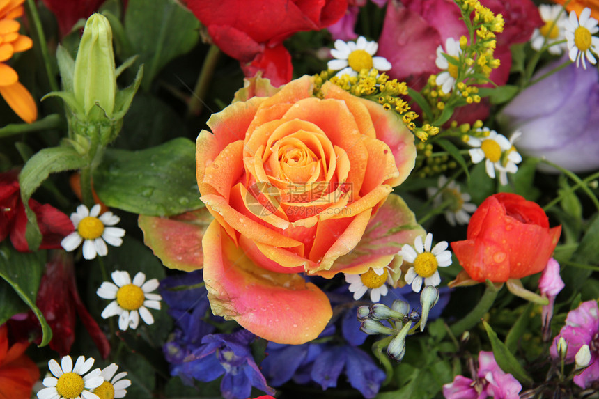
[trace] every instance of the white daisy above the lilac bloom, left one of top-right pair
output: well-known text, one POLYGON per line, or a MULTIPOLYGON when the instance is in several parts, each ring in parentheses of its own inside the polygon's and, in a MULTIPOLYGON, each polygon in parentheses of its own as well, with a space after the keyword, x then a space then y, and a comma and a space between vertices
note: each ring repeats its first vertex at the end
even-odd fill
POLYGON ((566 24, 566 13, 563 11, 563 7, 541 4, 538 6, 538 12, 545 25, 534 30, 530 39, 530 46, 538 51, 546 44, 547 51, 550 54, 559 55, 563 53, 563 50, 567 48, 566 43, 554 44, 564 39, 563 29, 566 24))

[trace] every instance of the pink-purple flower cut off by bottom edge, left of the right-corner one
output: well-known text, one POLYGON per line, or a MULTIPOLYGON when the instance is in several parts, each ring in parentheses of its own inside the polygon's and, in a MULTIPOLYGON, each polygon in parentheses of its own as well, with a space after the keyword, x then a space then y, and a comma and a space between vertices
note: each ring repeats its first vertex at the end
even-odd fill
POLYGON ((499 368, 493 352, 481 351, 476 380, 458 375, 443 386, 443 395, 447 399, 518 399, 521 390, 520 382, 499 368))

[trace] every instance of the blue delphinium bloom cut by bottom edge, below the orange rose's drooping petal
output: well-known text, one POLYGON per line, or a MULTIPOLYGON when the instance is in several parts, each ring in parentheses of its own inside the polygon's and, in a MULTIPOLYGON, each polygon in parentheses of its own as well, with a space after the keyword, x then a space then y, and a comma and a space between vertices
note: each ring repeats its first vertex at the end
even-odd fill
POLYGON ((187 382, 190 378, 209 382, 224 375, 221 393, 225 399, 248 398, 252 386, 272 395, 274 389, 268 386, 249 350, 251 341, 254 341, 254 334, 247 330, 207 335, 196 350, 173 367, 171 373, 187 382))

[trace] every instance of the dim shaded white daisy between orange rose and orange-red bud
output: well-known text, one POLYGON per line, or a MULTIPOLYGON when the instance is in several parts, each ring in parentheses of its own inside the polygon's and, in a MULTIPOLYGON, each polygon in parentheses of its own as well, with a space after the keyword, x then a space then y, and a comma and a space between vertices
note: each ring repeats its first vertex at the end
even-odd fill
POLYGON ((451 226, 468 224, 470 214, 476 210, 476 205, 468 202, 470 201, 470 194, 462 193, 455 180, 447 183, 447 178, 444 175, 439 176, 437 187, 428 187, 426 189, 429 198, 435 197, 433 198, 433 208, 439 208, 442 203, 449 203, 450 205, 445 211, 447 223, 451 226))

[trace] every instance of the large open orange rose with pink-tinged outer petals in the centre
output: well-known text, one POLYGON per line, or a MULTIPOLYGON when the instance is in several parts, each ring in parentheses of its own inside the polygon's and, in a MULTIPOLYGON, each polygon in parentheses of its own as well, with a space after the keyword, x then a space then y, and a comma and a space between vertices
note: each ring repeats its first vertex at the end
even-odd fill
POLYGON ((196 177, 215 220, 206 228, 198 210, 140 217, 139 225, 166 266, 191 270, 203 260, 213 313, 299 344, 320 334, 332 308, 298 273, 384 267, 422 233, 401 198, 389 196, 416 150, 413 134, 380 104, 328 82, 315 97, 309 76, 278 89, 267 82, 249 81, 208 120, 212 133, 198 136, 196 177))

